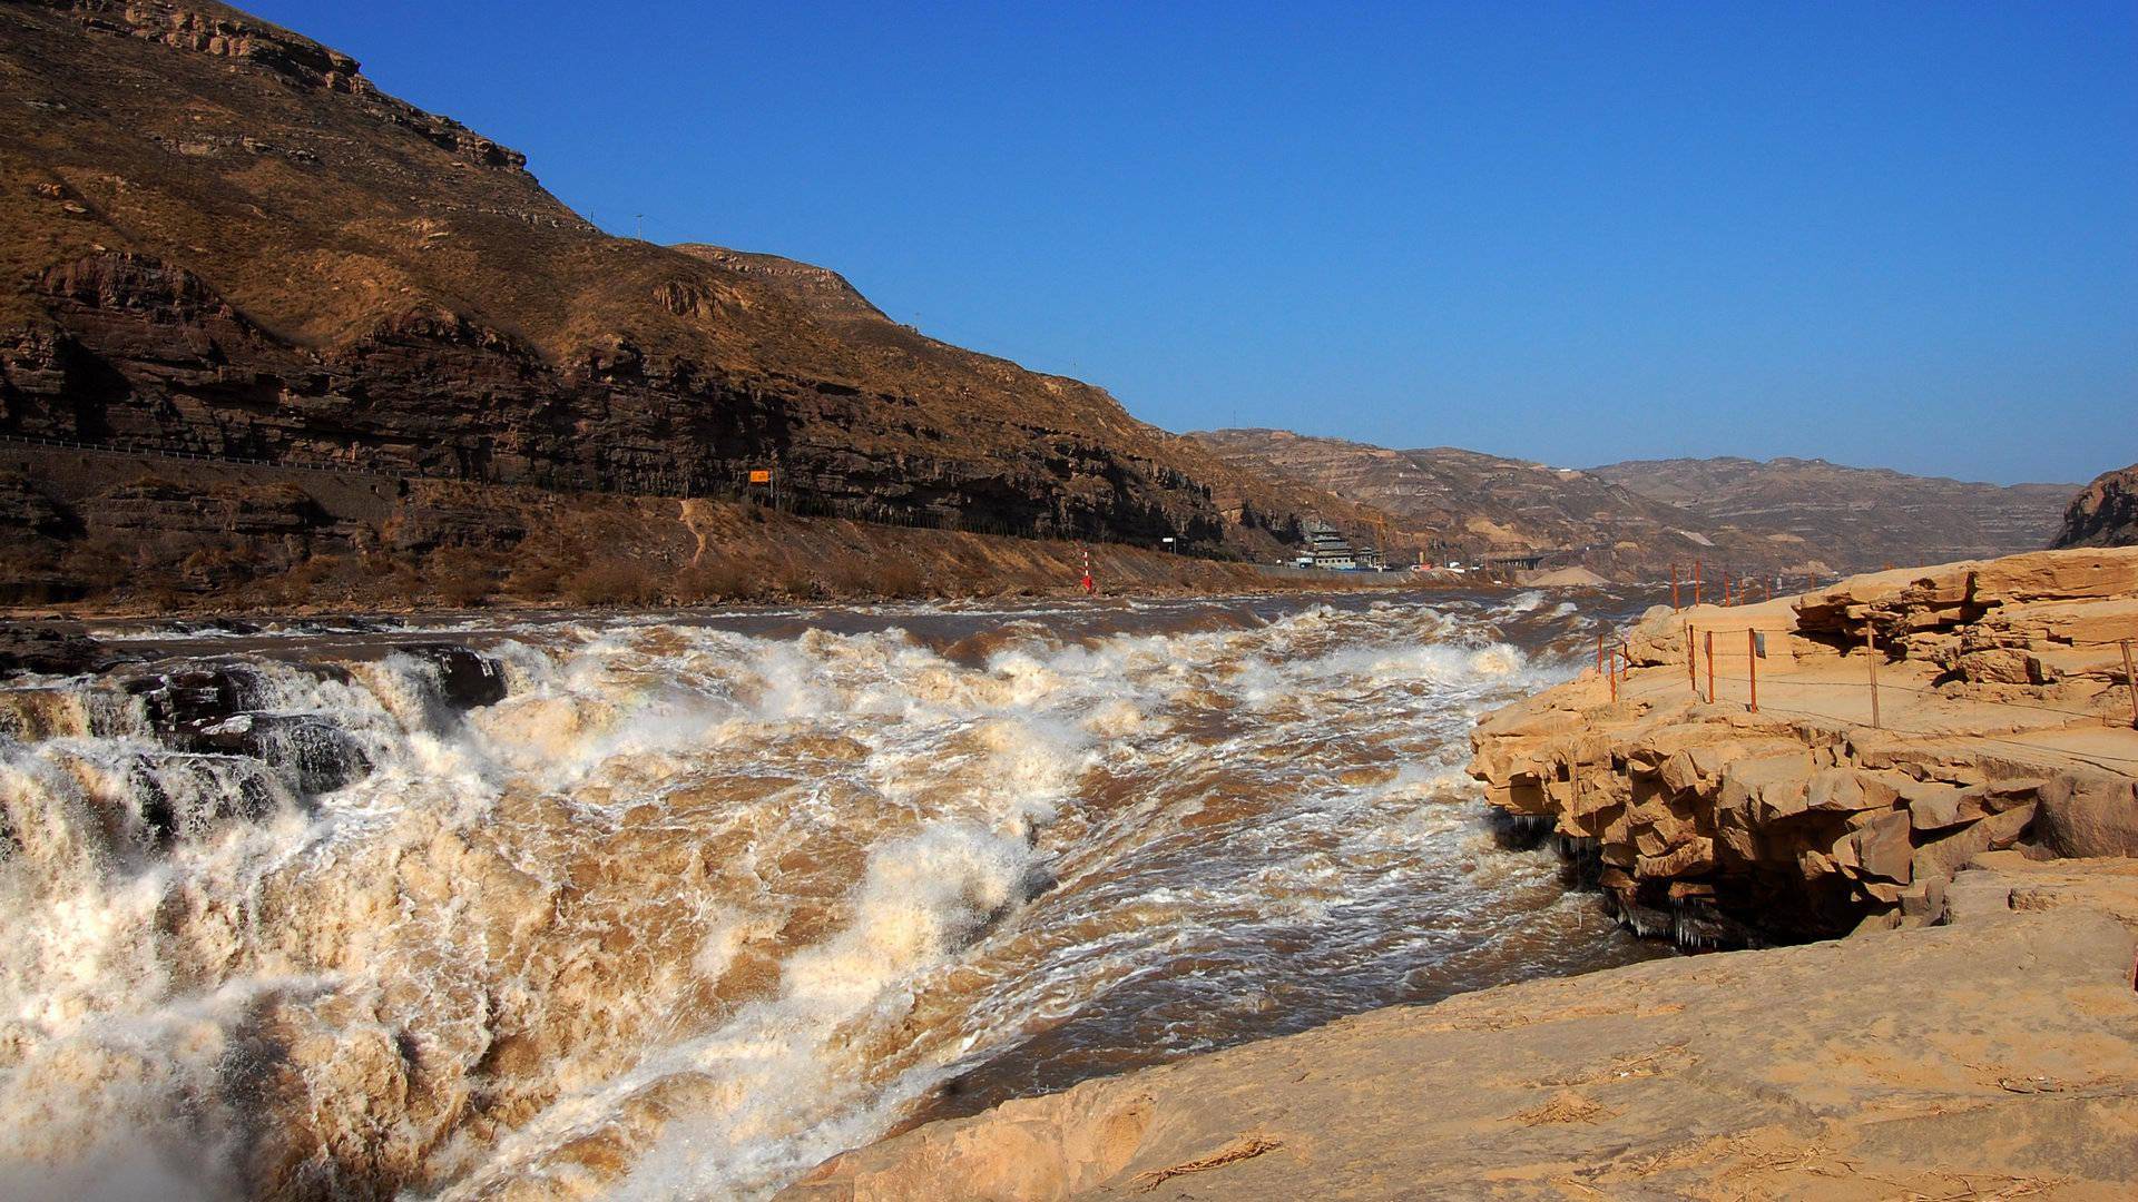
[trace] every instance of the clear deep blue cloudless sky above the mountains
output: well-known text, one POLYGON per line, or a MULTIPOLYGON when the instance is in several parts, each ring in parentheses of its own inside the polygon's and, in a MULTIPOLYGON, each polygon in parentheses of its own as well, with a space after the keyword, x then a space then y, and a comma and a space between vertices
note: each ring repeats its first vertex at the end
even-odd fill
POLYGON ((2138 4, 259 0, 616 233, 1191 430, 2138 460, 2138 4))

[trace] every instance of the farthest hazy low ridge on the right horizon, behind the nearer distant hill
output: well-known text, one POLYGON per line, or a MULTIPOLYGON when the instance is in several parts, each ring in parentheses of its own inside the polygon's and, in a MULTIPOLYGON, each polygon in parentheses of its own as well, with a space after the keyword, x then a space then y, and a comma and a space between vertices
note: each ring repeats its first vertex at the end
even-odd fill
POLYGON ((1843 569, 2046 548, 2067 483, 1967 483, 1826 460, 1629 460, 1589 468, 1717 526, 1781 530, 1843 569))

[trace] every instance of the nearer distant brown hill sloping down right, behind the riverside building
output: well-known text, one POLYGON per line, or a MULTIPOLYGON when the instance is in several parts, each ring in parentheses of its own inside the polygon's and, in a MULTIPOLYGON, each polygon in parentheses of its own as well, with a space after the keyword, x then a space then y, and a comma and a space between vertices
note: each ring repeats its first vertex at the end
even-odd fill
POLYGON ((1392 541, 1437 558, 1544 556, 1604 575, 1659 577, 1695 558, 1745 573, 1828 575, 1828 548, 1775 528, 1740 528, 1646 498, 1595 473, 1454 447, 1394 451, 1289 430, 1191 434, 1227 462, 1289 475, 1388 511, 1392 541))

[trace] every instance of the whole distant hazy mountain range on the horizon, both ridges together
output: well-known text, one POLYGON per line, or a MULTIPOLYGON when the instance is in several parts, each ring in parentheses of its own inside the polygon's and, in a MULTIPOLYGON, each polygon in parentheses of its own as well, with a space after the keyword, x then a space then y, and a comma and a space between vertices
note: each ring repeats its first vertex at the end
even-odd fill
POLYGON ((1191 434, 1392 515, 1394 541, 1447 558, 1550 552, 1606 575, 1695 558, 1747 573, 1832 573, 2048 545, 2076 486, 1963 483, 1824 460, 1651 460, 1554 468, 1452 447, 1390 449, 1287 430, 1191 434))

